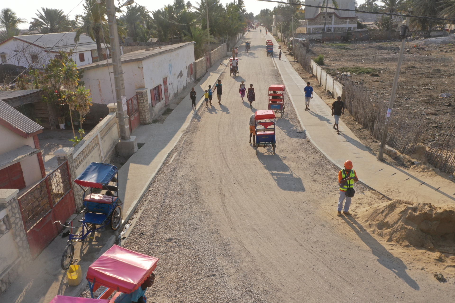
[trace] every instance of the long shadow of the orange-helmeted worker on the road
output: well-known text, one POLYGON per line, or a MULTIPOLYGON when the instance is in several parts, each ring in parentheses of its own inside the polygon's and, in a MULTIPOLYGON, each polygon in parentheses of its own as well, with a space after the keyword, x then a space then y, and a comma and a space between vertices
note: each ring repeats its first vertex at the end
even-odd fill
POLYGON ((395 257, 384 246, 381 245, 373 236, 367 232, 362 225, 350 216, 341 216, 350 228, 357 233, 357 236, 371 249, 371 252, 378 258, 379 264, 396 274, 401 280, 407 283, 411 288, 419 290, 420 286, 406 273, 406 265, 400 258, 395 257))

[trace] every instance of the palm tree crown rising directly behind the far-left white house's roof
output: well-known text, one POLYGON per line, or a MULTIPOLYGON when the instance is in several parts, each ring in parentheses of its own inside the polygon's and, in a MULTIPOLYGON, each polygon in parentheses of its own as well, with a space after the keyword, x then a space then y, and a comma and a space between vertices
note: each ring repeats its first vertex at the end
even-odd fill
POLYGON ((62 33, 70 31, 71 21, 63 10, 41 7, 41 12, 35 13, 38 18, 32 18, 30 30, 40 30, 42 34, 62 33))

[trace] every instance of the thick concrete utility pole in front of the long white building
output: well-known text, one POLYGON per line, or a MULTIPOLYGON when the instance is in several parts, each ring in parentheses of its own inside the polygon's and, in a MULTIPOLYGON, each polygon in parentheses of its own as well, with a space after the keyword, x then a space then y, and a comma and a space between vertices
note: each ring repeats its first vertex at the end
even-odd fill
MULTIPOLYGON (((126 2, 124 5, 128 4, 126 2)), ((131 1, 131 4, 134 1, 131 1)), ((123 5, 122 5, 123 6, 123 5)), ((120 9, 120 8, 119 8, 120 9)), ((120 139, 129 140, 130 129, 128 123, 128 114, 126 109, 125 83, 123 82, 123 70, 121 68, 120 41, 118 39, 116 8, 114 0, 106 0, 107 24, 109 26, 109 38, 111 43, 112 70, 114 71, 115 95, 117 101, 118 126, 120 130, 120 139)), ((108 59, 108 58, 107 58, 108 59)))

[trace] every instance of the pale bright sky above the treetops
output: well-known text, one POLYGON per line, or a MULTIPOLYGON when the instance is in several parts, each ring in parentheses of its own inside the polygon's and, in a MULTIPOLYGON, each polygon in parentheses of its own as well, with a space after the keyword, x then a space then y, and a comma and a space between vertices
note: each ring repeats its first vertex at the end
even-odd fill
MULTIPOLYGON (((187 0, 186 0, 187 1, 187 0)), ((196 2, 201 0, 190 0, 193 5, 196 5, 196 2)), ((221 0, 223 4, 231 2, 232 0, 221 0)), ((82 14, 84 8, 82 4, 84 0, 76 1, 62 1, 62 0, 45 0, 45 1, 36 1, 36 0, 19 0, 19 1, 1 1, 0 9, 10 8, 13 10, 16 15, 20 18, 25 18, 28 22, 31 21, 31 18, 36 17, 36 10, 40 9, 41 6, 49 8, 58 8, 63 10, 66 14, 69 14, 70 19, 74 19, 75 15, 82 14), (40 5, 37 4, 41 3, 40 5)), ((115 0, 117 3, 118 0, 115 0)), ((145 6, 147 10, 157 10, 162 8, 164 5, 173 3, 174 0, 137 0, 137 3, 145 6)), ((245 8, 248 12, 253 12, 254 15, 258 15, 259 11, 265 8, 273 9, 276 6, 275 3, 263 2, 257 0, 244 0, 245 8)), ((358 5, 365 2, 365 0, 358 0, 358 5)), ((378 1, 379 2, 379 1, 378 1)), ((27 24, 22 24, 20 28, 28 28, 27 24)))

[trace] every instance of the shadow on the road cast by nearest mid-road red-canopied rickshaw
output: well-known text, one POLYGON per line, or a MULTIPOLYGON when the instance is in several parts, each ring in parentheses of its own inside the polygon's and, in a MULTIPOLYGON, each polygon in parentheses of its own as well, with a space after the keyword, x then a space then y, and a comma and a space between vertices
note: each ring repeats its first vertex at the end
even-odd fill
POLYGON ((272 175, 273 180, 277 183, 278 187, 282 190, 304 192, 302 179, 286 165, 280 156, 273 154, 272 147, 267 147, 264 153, 261 151, 264 147, 258 148, 258 159, 264 168, 272 175))

